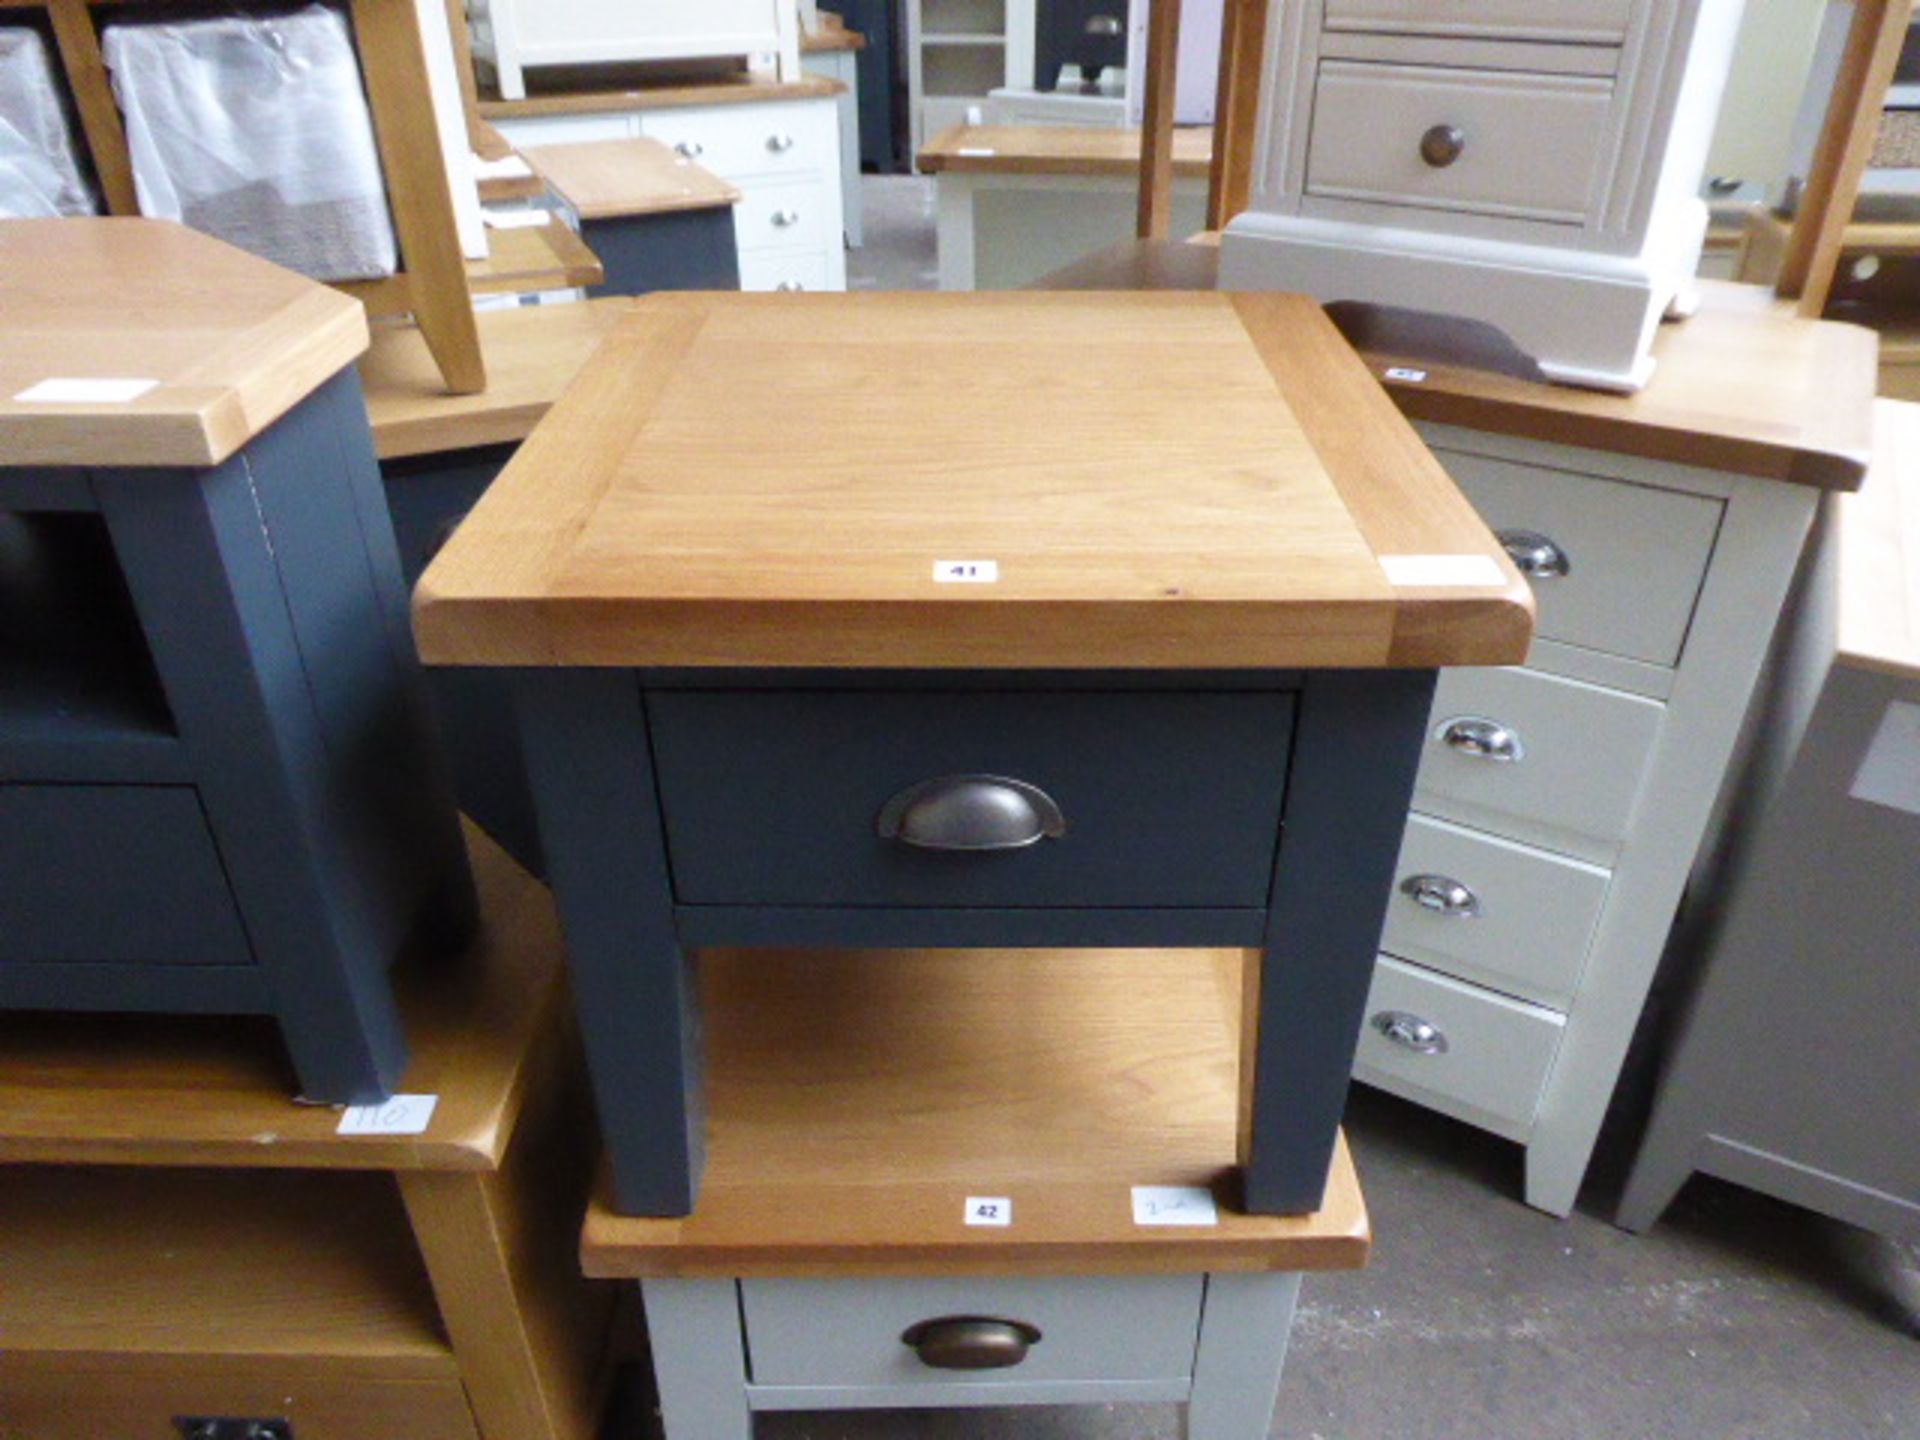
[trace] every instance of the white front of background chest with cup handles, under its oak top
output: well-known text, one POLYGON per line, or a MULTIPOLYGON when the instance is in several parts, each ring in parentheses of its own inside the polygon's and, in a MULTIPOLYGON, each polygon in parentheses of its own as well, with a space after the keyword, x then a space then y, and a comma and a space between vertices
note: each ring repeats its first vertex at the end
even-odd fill
POLYGON ((649 136, 732 182, 741 290, 845 290, 835 96, 499 119, 516 146, 649 136))

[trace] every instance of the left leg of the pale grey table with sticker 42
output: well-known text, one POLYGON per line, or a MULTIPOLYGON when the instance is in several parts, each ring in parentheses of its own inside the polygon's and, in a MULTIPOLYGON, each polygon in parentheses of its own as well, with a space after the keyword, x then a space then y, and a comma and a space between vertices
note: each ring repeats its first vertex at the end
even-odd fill
POLYGON ((641 1281, 666 1440, 753 1440, 733 1281, 641 1281))

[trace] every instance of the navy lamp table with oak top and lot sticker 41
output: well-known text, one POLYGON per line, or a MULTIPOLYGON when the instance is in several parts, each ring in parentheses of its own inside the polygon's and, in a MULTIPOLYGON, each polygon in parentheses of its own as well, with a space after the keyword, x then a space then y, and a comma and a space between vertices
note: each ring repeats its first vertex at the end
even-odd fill
POLYGON ((516 680, 618 1210, 697 1213, 701 947, 1246 947, 1225 1198, 1306 1213, 1434 672, 1532 609, 1308 300, 668 294, 415 634, 516 680))

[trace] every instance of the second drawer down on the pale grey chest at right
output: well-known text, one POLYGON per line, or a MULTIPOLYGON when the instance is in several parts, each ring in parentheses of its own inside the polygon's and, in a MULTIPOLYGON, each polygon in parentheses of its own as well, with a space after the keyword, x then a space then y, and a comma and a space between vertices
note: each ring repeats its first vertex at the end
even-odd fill
POLYGON ((1611 864, 1640 801, 1667 707, 1534 670, 1446 670, 1415 808, 1611 864), (1473 753, 1501 735, 1517 758, 1473 753))

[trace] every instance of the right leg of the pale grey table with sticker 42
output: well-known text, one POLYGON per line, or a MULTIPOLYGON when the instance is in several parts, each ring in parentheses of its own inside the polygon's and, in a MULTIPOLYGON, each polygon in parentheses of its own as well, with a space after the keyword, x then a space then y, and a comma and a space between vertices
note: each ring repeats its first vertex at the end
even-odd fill
POLYGON ((1187 1440, 1267 1440, 1298 1275, 1208 1275, 1187 1440))

